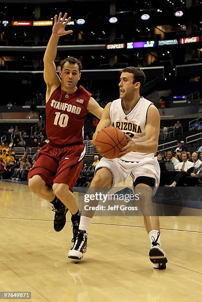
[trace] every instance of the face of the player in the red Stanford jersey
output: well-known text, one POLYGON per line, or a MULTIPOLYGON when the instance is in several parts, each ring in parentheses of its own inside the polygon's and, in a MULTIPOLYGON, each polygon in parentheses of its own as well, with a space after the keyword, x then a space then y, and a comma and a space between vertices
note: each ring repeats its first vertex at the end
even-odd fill
POLYGON ((77 85, 81 73, 79 72, 77 64, 69 64, 69 62, 66 62, 62 72, 60 72, 60 76, 63 86, 67 89, 73 89, 77 85))

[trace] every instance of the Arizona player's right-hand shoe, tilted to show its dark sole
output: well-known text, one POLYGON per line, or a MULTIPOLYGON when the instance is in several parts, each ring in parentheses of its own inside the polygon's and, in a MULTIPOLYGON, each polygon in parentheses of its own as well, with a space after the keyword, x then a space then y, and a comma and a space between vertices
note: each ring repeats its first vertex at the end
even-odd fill
POLYGON ((152 247, 149 251, 149 259, 150 261, 155 264, 154 268, 157 269, 165 269, 166 263, 168 262, 166 253, 164 252, 161 245, 157 242, 160 236, 160 232, 158 232, 158 236, 155 240, 154 237, 152 237, 152 247))

